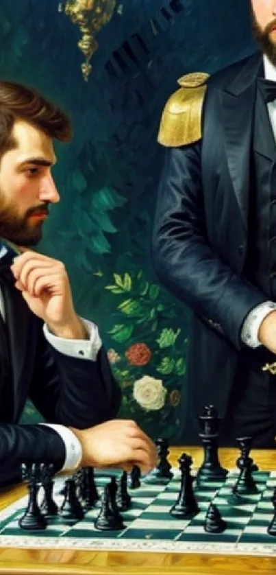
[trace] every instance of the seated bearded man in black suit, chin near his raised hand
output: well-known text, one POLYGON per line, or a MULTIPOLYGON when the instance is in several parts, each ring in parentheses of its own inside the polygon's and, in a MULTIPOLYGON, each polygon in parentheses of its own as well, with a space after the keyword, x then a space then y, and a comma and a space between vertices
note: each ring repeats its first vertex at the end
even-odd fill
POLYGON ((54 139, 71 139, 66 115, 32 89, 0 82, 1 484, 21 462, 56 471, 156 462, 138 425, 114 419, 118 384, 97 326, 75 311, 63 264, 32 249, 60 200, 54 139), (27 397, 46 423, 18 423, 27 397))

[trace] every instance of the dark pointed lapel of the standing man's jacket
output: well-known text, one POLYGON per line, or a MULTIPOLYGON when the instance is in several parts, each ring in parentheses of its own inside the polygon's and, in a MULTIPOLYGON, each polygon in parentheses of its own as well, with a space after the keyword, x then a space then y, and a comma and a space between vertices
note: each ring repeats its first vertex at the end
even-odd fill
POLYGON ((262 55, 258 53, 221 89, 227 164, 246 230, 256 79, 261 74, 262 55))

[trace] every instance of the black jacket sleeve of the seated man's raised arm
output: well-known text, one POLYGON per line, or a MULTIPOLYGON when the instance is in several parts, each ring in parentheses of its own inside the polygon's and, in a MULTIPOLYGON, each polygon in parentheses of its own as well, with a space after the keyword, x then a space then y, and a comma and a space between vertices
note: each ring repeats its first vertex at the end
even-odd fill
POLYGON ((121 402, 103 347, 95 362, 64 355, 47 342, 42 328, 29 397, 47 422, 79 429, 113 419, 121 402))

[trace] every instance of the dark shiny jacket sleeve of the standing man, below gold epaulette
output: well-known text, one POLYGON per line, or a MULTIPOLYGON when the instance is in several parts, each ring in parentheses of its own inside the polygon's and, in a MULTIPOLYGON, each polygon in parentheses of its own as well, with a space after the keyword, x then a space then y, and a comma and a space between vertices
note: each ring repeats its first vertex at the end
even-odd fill
POLYGON ((240 349, 251 309, 267 298, 231 270, 208 242, 201 187, 201 143, 166 149, 153 227, 160 280, 240 349))

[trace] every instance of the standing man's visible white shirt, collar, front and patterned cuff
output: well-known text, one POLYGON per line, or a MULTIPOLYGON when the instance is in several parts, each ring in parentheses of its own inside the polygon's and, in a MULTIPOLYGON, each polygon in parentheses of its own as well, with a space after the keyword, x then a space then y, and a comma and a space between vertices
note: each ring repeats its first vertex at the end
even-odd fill
MULTIPOLYGON (((276 82, 276 67, 271 64, 270 60, 264 56, 264 77, 267 80, 272 80, 276 82)), ((274 102, 269 102, 267 104, 268 115, 271 119, 271 126, 273 129, 273 134, 276 142, 276 100, 274 102)), ((242 326, 241 338, 242 342, 247 344, 249 347, 256 348, 261 345, 258 339, 258 333, 262 321, 268 314, 276 309, 276 303, 273 301, 266 301, 261 303, 257 307, 251 310, 250 314, 247 316, 244 324, 242 326)))

